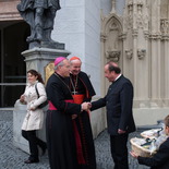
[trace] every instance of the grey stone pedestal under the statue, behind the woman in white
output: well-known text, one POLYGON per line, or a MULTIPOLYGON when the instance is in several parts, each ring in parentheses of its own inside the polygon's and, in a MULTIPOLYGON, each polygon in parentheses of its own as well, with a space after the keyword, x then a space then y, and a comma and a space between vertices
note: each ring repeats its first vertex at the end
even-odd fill
MULTIPOLYGON (((38 71, 44 81, 47 82, 49 75, 53 72, 53 61, 57 57, 68 57, 70 55, 67 50, 49 49, 49 48, 33 48, 22 52, 25 57, 26 72, 31 69, 38 71), (51 64, 50 64, 51 63, 51 64)), ((44 126, 37 132, 37 136, 46 141, 46 110, 44 126)), ((26 114, 26 105, 22 105, 20 100, 16 100, 13 111, 13 143, 22 150, 29 153, 28 142, 21 134, 21 126, 26 114)))

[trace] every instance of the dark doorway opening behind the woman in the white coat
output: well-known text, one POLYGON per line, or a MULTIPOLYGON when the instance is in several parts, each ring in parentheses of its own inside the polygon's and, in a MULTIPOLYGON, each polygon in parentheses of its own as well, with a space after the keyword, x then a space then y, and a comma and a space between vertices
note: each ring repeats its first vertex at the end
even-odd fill
POLYGON ((28 35, 25 22, 0 22, 0 107, 13 107, 24 92, 26 64, 21 52, 28 49, 28 35))

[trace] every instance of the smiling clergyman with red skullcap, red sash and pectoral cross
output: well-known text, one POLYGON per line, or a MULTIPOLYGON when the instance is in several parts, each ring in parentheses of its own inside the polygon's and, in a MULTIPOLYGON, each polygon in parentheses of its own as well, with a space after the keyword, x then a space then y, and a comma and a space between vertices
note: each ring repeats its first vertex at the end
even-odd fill
MULTIPOLYGON (((82 61, 77 57, 70 59, 69 87, 75 104, 90 101, 95 95, 94 87, 85 72, 81 71, 82 61)), ((96 169, 95 147, 90 126, 89 111, 73 116, 76 141, 76 154, 80 169, 96 169)))

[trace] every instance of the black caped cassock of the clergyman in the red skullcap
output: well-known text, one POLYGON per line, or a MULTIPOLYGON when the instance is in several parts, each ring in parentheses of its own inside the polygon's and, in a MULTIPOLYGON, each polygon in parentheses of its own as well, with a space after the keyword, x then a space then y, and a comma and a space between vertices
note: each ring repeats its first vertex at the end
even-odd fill
MULTIPOLYGON (((80 72, 77 76, 70 75, 68 80, 68 84, 71 88, 71 92, 76 92, 79 95, 84 95, 84 101, 90 101, 92 96, 95 95, 95 90, 93 85, 85 72, 80 72), (73 83, 73 86, 72 86, 73 83), (76 86, 74 86, 76 83, 76 86), (75 87, 75 88, 74 88, 75 87)), ((90 126, 89 114, 86 111, 83 111, 77 116, 74 120, 79 130, 79 134, 81 137, 83 157, 85 159, 85 164, 80 164, 84 169, 96 169, 96 156, 95 156, 95 146, 93 140, 93 132, 90 126)), ((81 168, 81 167, 80 167, 81 168)))

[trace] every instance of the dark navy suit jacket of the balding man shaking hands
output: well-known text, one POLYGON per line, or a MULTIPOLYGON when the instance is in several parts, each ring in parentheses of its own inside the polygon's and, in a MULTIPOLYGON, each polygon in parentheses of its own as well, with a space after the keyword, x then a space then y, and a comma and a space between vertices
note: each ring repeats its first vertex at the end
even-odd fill
POLYGON ((113 82, 107 95, 97 101, 92 102, 92 110, 106 106, 108 133, 118 135, 118 129, 131 133, 135 131, 133 120, 133 86, 132 83, 121 75, 113 82))

